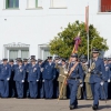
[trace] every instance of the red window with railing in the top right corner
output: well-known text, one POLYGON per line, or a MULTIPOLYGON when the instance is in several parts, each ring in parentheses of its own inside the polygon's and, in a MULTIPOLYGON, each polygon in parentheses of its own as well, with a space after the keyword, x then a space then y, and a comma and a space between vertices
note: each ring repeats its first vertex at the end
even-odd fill
POLYGON ((111 12, 111 0, 101 0, 101 12, 111 12))

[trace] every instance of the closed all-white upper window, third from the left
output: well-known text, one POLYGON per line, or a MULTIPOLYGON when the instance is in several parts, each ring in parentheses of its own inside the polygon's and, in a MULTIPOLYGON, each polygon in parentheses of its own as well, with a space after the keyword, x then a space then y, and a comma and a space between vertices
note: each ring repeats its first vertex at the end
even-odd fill
POLYGON ((67 0, 51 0, 51 8, 67 8, 67 0))

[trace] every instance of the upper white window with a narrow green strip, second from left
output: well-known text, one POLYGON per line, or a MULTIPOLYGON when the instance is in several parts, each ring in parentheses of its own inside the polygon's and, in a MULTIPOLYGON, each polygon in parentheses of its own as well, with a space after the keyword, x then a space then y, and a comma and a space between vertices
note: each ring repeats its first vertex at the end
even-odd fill
POLYGON ((28 9, 42 7, 42 0, 28 0, 28 9))

